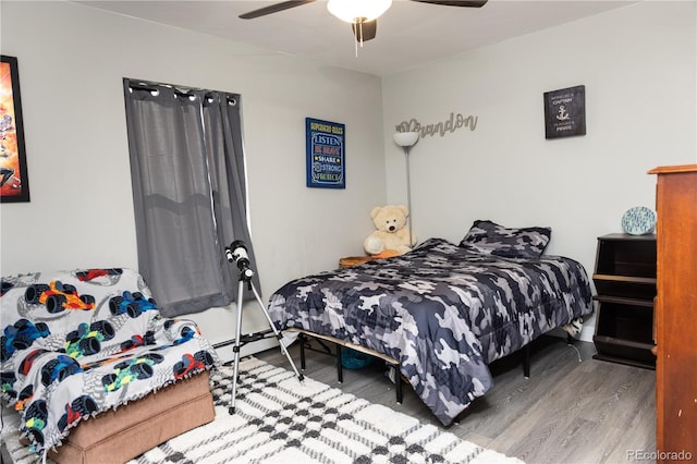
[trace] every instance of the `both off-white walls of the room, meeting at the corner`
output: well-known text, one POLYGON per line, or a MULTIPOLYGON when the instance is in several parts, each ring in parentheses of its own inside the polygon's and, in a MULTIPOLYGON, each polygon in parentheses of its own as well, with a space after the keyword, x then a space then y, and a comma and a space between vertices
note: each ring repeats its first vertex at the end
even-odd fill
MULTIPOLYGON (((420 237, 457 242, 485 218, 551 225, 549 253, 589 272, 596 236, 619 232, 628 207, 653 205, 646 171, 696 160, 694 2, 626 7, 382 82, 71 3, 3 0, 0 16, 1 51, 20 61, 32 190, 28 204, 0 205, 3 276, 137 268, 124 76, 242 94, 265 300, 291 278, 362 254, 370 209, 406 202, 392 143, 405 119, 478 117, 474 132, 412 151, 420 237), (579 84, 588 134, 546 141, 542 93, 579 84), (305 117, 346 124, 346 190, 305 187, 305 117)), ((196 319, 218 342, 234 332, 233 314, 196 319)), ((254 307, 244 317, 244 331, 266 326, 254 307)))

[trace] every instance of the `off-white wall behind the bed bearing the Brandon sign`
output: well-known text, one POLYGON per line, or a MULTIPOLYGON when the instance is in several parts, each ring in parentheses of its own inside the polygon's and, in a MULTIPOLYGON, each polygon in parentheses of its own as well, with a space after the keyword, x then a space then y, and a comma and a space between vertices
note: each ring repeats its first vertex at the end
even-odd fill
POLYGON ((647 171, 697 161, 696 19, 695 2, 644 2, 384 78, 388 202, 406 202, 394 126, 474 114, 475 131, 412 149, 416 234, 457 243, 476 219, 550 225, 548 253, 591 273, 596 237, 622 232, 627 208, 653 207, 647 171), (576 85, 587 135, 546 141, 542 94, 576 85))

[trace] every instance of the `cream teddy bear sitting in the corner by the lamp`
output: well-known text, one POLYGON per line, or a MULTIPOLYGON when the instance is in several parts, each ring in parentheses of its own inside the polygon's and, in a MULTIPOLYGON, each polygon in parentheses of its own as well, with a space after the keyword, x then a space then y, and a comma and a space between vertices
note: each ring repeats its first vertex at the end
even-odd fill
POLYGON ((376 206, 370 211, 370 218, 376 227, 363 243, 365 251, 372 256, 396 256, 412 249, 416 245, 416 235, 412 233, 409 243, 409 230, 406 227, 406 218, 409 211, 404 205, 376 206))

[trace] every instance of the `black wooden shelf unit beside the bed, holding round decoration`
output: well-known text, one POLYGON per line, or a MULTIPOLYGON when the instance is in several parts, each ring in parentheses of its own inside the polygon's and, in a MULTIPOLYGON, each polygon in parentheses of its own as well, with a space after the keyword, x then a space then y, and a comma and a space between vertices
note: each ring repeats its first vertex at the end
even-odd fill
POLYGON ((596 359, 653 369, 656 235, 598 237, 596 359))

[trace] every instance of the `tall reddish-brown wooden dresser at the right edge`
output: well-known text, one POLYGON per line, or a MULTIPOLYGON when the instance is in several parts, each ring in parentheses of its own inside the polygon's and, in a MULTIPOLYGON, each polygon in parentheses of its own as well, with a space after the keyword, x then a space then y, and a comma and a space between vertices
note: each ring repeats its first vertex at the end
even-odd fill
POLYGON ((657 174, 657 462, 697 460, 697 164, 657 174), (680 453, 683 453, 682 455, 680 453), (689 457, 688 457, 689 456, 689 457), (682 457, 682 459, 681 459, 682 457))

